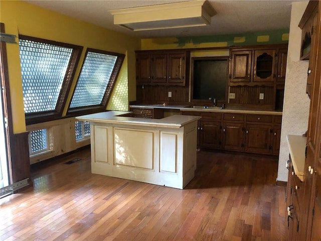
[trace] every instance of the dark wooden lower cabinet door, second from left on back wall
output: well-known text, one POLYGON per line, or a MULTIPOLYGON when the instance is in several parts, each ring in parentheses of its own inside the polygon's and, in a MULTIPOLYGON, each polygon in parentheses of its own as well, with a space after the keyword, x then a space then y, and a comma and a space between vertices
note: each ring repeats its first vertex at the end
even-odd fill
POLYGON ((223 125, 223 149, 242 151, 244 149, 242 123, 224 123, 223 125))

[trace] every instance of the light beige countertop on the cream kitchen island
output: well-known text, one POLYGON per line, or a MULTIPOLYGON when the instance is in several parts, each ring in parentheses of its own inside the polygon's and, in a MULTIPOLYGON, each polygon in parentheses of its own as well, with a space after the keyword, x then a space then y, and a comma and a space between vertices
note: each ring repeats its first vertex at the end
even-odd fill
POLYGON ((95 114, 87 114, 77 116, 80 121, 109 123, 109 124, 126 124, 131 126, 145 126, 145 127, 163 127, 163 128, 181 128, 191 122, 200 119, 200 116, 192 115, 172 115, 162 119, 148 119, 118 116, 122 114, 131 113, 131 111, 107 111, 95 114))

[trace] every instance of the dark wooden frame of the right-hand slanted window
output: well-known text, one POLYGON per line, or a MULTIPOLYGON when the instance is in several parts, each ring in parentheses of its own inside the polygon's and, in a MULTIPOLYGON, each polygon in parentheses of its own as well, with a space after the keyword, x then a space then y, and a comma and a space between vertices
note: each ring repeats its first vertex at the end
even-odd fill
POLYGON ((84 57, 82 65, 81 65, 81 69, 80 69, 80 72, 79 72, 79 75, 78 75, 78 78, 77 78, 77 81, 76 81, 76 84, 75 84, 75 87, 74 87, 74 90, 73 90, 73 93, 71 96, 71 99, 69 101, 67 114, 69 116, 76 116, 76 115, 91 114, 91 113, 106 111, 106 107, 107 107, 108 101, 110 99, 111 92, 115 86, 115 83, 118 78, 122 63, 124 62, 124 59, 125 59, 125 54, 120 54, 120 53, 115 53, 115 52, 110 52, 110 51, 105 51, 105 50, 99 50, 99 49, 87 48, 86 53, 85 53, 85 57, 84 57), (70 104, 71 104, 72 98, 74 96, 74 93, 75 93, 75 90, 76 90, 76 87, 77 87, 77 84, 78 84, 78 81, 80 78, 80 74, 83 69, 88 52, 113 55, 113 56, 117 57, 117 60, 116 60, 115 66, 112 70, 112 73, 110 75, 110 79, 108 81, 108 84, 107 84, 107 87, 106 87, 106 90, 105 90, 105 93, 104 93, 101 103, 96 104, 96 105, 87 105, 87 106, 71 108, 70 104))

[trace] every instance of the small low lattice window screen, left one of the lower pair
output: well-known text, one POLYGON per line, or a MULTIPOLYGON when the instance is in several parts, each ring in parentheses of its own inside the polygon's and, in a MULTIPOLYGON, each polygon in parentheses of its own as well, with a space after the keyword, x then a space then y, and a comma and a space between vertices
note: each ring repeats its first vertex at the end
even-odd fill
POLYGON ((29 133, 29 138, 30 154, 47 151, 49 149, 47 129, 32 131, 29 133))

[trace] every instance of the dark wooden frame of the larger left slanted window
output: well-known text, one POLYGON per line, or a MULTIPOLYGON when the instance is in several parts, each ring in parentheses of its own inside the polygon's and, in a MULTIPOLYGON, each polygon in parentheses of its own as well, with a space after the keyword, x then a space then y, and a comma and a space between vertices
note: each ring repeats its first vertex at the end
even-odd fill
POLYGON ((56 108, 50 111, 25 113, 26 125, 54 121, 55 119, 62 118, 62 114, 66 106, 67 97, 71 89, 71 84, 75 76, 75 72, 80 60, 83 46, 67 44, 67 43, 57 42, 57 41, 48 40, 48 39, 36 38, 36 37, 27 36, 27 35, 19 35, 19 40, 35 41, 39 43, 51 44, 51 45, 73 49, 70 57, 70 61, 67 67, 67 71, 65 73, 65 77, 62 82, 60 93, 57 99, 56 108))

